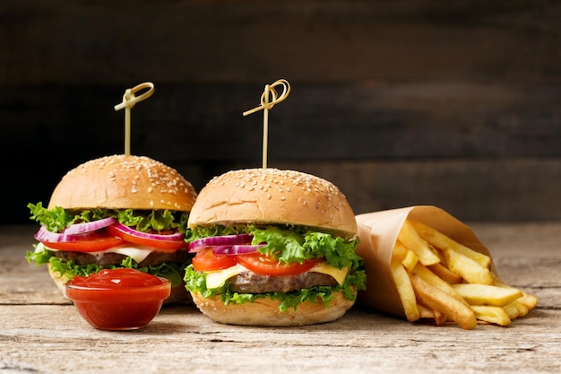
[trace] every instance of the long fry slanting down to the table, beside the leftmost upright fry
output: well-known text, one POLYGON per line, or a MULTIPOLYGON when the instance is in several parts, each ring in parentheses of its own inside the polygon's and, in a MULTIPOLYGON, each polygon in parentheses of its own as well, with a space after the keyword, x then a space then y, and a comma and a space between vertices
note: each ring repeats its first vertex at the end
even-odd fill
POLYGON ((420 302, 428 308, 444 313, 465 330, 477 326, 475 313, 469 306, 427 283, 419 274, 411 274, 411 283, 420 302))

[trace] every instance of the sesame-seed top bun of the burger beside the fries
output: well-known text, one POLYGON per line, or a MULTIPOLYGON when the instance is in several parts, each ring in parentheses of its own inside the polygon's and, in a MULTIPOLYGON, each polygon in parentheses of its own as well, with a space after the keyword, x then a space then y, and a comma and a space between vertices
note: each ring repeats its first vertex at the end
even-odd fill
POLYGON ((285 223, 357 232, 347 198, 331 182, 299 171, 233 170, 213 178, 199 193, 189 227, 233 223, 285 223))

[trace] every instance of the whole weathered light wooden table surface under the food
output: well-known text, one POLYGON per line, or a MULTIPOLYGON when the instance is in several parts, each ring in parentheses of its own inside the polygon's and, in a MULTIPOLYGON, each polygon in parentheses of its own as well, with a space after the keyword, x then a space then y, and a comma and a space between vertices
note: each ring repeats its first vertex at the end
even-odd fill
POLYGON ((25 261, 37 227, 0 226, 0 373, 561 372, 561 222, 470 226, 505 282, 539 298, 511 326, 464 331, 358 308, 316 326, 226 326, 175 305, 143 329, 100 331, 25 261))

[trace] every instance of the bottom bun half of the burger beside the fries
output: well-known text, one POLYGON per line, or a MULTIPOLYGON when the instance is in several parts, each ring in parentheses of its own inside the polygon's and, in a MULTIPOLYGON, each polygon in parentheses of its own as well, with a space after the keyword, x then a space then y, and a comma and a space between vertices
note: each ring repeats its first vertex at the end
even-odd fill
POLYGON ((341 318, 355 303, 348 300, 341 291, 333 293, 329 306, 322 300, 306 301, 298 304, 296 310, 280 311, 280 300, 257 299, 245 304, 224 304, 220 296, 204 299, 199 292, 191 292, 194 304, 199 310, 216 322, 244 326, 305 326, 331 322, 341 318))

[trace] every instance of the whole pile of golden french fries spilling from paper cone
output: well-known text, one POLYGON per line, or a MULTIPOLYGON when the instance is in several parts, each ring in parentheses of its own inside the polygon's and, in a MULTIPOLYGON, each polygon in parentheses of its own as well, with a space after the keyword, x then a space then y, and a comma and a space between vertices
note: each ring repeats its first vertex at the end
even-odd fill
POLYGON ((411 322, 452 320, 463 329, 478 321, 510 325, 538 299, 501 281, 491 258, 409 219, 393 248, 392 274, 405 316, 411 322))

